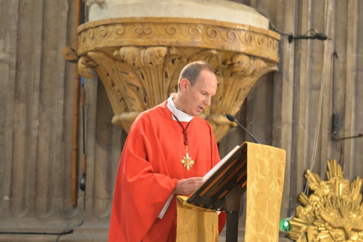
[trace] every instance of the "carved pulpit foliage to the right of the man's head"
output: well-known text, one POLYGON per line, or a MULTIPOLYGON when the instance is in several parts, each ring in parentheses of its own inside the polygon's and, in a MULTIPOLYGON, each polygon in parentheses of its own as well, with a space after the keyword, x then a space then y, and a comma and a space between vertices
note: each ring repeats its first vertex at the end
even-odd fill
POLYGON ((270 71, 277 70, 276 65, 246 54, 234 54, 223 57, 224 53, 216 50, 201 51, 189 59, 189 62, 203 59, 215 69, 218 88, 212 97, 211 106, 201 114, 212 127, 219 142, 234 123, 227 120, 225 114, 236 115, 243 101, 257 80, 270 71))

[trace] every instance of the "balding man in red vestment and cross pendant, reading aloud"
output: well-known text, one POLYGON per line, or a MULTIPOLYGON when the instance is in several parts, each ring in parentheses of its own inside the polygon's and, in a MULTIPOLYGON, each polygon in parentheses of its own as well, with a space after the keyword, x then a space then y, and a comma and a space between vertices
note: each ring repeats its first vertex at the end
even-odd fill
MULTIPOLYGON (((109 242, 176 240, 175 195, 194 192, 220 161, 212 129, 198 117, 216 91, 212 67, 205 61, 189 63, 181 71, 178 93, 135 119, 118 168, 109 242)), ((221 213, 220 230, 224 222, 221 213)))

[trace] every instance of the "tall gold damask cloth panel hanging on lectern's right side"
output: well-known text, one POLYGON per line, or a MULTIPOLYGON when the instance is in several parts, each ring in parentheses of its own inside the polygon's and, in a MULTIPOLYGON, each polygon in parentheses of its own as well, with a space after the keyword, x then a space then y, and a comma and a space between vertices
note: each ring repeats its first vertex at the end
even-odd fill
POLYGON ((277 242, 286 151, 247 144, 245 242, 277 242))

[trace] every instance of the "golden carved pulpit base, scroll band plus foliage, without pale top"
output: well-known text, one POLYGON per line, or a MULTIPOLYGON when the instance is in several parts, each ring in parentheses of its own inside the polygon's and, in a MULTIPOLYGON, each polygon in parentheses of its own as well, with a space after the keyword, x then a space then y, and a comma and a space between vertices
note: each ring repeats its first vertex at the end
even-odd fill
POLYGON ((200 116, 209 122, 219 142, 235 126, 225 114, 237 114, 257 80, 277 70, 278 36, 252 26, 232 28, 231 23, 150 19, 99 20, 81 25, 80 75, 89 78, 89 69, 97 73, 115 114, 112 123, 129 132, 139 113, 177 92, 179 74, 186 64, 205 60, 215 70, 218 88, 211 106, 200 116), (254 32, 257 30, 260 32, 254 32))

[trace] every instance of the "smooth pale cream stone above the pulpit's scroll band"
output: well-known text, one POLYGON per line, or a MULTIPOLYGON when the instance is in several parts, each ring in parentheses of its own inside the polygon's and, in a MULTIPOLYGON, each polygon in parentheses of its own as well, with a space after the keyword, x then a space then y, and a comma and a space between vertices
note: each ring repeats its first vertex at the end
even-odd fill
POLYGON ((227 0, 89 1, 89 21, 120 17, 181 17, 233 22, 268 29, 269 22, 253 8, 227 0))

